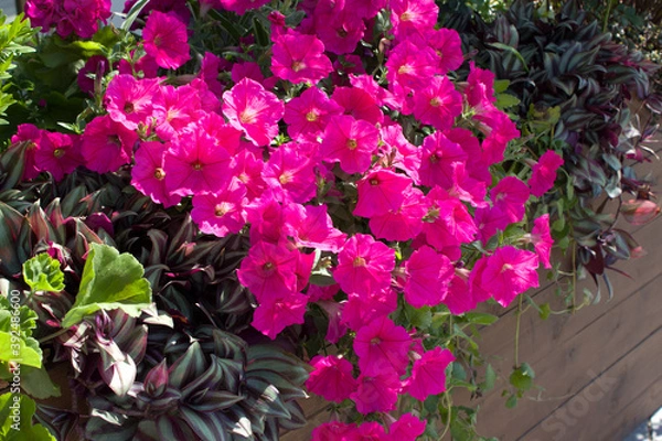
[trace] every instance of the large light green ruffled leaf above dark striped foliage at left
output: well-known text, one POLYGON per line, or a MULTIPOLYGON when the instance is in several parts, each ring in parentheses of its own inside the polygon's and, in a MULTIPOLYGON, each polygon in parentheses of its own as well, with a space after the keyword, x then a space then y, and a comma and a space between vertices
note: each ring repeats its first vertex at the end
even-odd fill
POLYGON ((151 287, 143 273, 142 265, 130 254, 90 244, 78 295, 62 326, 71 327, 99 310, 121 309, 130 316, 140 315, 151 304, 151 287))

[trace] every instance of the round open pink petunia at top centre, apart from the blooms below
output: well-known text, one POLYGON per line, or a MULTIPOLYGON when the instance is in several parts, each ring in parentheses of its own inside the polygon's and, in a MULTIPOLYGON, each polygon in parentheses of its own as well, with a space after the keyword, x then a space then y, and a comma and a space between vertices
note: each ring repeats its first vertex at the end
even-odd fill
POLYGON ((274 41, 271 72, 293 84, 316 84, 332 71, 324 44, 314 35, 290 31, 274 41))

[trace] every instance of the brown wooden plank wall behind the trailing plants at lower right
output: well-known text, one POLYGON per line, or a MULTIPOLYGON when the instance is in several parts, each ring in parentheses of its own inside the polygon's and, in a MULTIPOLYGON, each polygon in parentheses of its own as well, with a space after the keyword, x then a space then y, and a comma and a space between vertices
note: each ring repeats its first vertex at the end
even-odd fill
MULTIPOLYGON (((661 137, 662 139, 662 137, 661 137)), ((659 146, 655 150, 660 151, 659 146)), ((656 182, 659 162, 644 165, 656 182)), ((658 187, 659 189, 659 187, 658 187)), ((494 389, 457 402, 480 406, 478 429, 501 441, 621 441, 662 407, 662 217, 631 232, 647 250, 639 259, 619 262, 630 277, 609 272, 615 297, 575 314, 541 320, 531 310, 521 319, 520 362, 535 370, 536 387, 514 409, 506 409, 501 391, 508 387, 514 358, 514 309, 489 308, 499 321, 482 331, 481 352, 496 369, 494 389)), ((543 280, 543 279, 541 279, 543 280)), ((592 281, 583 288, 595 291, 592 281)), ((555 287, 531 294, 553 310, 563 308, 555 287)), ((578 294, 580 297, 580 294, 578 294)), ((323 400, 303 401, 309 423, 285 433, 282 441, 307 441, 312 429, 329 420, 323 400)), ((447 440, 450 437, 446 438, 447 440)))

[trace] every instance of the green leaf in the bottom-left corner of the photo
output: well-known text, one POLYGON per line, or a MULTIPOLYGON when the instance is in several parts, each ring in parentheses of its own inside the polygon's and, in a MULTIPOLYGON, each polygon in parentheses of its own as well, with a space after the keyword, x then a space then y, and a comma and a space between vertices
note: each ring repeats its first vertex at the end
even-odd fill
POLYGON ((0 439, 3 441, 56 441, 42 424, 32 424, 36 405, 19 394, 0 396, 0 439))

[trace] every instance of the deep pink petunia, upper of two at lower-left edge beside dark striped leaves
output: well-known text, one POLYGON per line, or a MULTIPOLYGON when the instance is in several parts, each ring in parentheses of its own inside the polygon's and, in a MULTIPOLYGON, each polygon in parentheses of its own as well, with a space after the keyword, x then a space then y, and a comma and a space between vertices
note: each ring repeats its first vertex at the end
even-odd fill
POLYGON ((255 243, 242 260, 237 277, 263 303, 297 292, 299 251, 263 240, 255 243))

